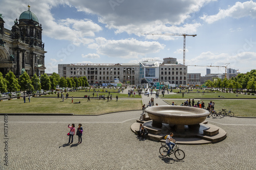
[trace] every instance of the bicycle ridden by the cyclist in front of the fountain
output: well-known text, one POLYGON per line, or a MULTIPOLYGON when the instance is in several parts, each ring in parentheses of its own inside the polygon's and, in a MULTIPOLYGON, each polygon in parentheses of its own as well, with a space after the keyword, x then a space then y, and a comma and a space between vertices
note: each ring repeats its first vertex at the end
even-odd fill
MULTIPOLYGON (((169 148, 168 148, 168 146, 166 146, 166 143, 161 142, 161 147, 159 149, 161 156, 167 156, 168 150, 169 150, 169 148)), ((177 142, 175 142, 175 146, 174 146, 173 150, 170 151, 169 154, 172 155, 173 153, 178 160, 182 160, 185 158, 185 153, 179 149, 177 142)))

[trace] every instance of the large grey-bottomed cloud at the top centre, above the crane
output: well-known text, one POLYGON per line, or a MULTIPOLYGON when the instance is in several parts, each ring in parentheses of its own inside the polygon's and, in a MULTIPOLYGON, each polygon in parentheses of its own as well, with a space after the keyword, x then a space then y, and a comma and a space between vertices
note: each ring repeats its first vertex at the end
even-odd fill
MULTIPOLYGON (((71 2, 79 11, 98 15, 99 22, 104 23, 108 29, 115 29, 116 34, 126 32, 139 36, 141 33, 162 32, 194 34, 201 26, 200 23, 180 25, 190 18, 191 14, 198 12, 204 4, 211 1, 216 0, 148 0, 146 3, 135 0, 102 0, 97 1, 97 5, 93 1, 71 2)), ((160 38, 172 39, 172 37, 160 38)))

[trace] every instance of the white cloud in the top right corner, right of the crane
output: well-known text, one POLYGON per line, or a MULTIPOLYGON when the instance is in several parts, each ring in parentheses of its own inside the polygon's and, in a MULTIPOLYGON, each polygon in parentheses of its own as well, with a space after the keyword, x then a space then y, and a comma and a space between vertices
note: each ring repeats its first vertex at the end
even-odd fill
POLYGON ((225 17, 242 18, 245 16, 250 16, 251 18, 256 18, 256 3, 253 1, 247 1, 244 3, 237 2, 233 6, 226 10, 220 9, 219 13, 216 15, 203 15, 200 17, 207 23, 212 23, 217 20, 223 19, 225 17))

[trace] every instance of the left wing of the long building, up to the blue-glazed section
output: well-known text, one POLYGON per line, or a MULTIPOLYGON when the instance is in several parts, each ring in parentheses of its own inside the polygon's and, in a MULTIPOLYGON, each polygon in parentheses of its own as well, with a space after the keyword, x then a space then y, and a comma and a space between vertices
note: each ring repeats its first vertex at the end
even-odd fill
POLYGON ((119 79, 123 84, 138 84, 139 64, 58 64, 60 77, 86 76, 88 83, 113 83, 119 79))

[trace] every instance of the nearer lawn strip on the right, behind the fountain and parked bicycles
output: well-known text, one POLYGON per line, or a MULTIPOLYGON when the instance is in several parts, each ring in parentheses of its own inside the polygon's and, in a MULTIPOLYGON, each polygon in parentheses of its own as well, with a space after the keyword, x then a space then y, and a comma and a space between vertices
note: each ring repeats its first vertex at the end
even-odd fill
MULTIPOLYGON (((187 99, 182 100, 169 100, 165 101, 172 104, 173 102, 178 106, 181 105, 182 102, 185 102, 187 99)), ((200 100, 200 102, 204 102, 205 106, 208 106, 210 101, 215 103, 215 111, 219 112, 221 109, 227 109, 227 111, 231 108, 231 111, 234 112, 235 116, 256 116, 256 105, 255 100, 200 100)), ((198 100, 195 100, 197 103, 198 100)), ((186 107, 186 106, 184 106, 186 107)))

